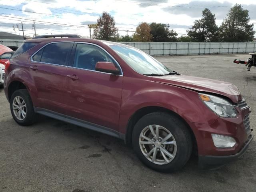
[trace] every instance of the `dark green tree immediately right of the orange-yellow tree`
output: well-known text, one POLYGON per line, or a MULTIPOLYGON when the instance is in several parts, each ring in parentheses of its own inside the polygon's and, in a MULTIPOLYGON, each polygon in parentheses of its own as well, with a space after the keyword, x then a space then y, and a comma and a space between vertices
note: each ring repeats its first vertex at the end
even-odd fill
POLYGON ((178 35, 173 30, 168 31, 166 25, 162 23, 151 23, 150 24, 150 34, 152 34, 152 40, 154 42, 173 42, 176 41, 176 36, 178 35))

